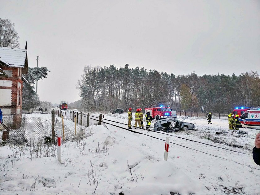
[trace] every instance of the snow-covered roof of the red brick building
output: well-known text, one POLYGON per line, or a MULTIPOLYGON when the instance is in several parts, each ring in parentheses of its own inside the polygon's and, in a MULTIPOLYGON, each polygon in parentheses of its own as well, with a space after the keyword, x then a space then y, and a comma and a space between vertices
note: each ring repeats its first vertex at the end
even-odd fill
POLYGON ((22 73, 28 74, 27 50, 0 47, 0 62, 10 67, 22 68, 22 73))

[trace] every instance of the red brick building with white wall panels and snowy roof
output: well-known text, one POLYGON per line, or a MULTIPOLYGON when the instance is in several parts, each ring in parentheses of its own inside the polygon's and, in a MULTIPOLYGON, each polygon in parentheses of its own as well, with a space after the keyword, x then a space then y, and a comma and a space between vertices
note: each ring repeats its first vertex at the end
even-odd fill
POLYGON ((23 81, 26 81, 22 74, 28 74, 27 46, 25 49, 0 47, 0 108, 4 115, 20 118, 23 81))

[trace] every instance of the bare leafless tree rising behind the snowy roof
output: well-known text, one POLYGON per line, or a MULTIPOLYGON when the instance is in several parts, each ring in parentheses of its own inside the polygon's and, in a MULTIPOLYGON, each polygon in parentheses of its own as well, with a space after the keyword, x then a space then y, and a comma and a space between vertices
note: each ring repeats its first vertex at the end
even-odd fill
POLYGON ((19 48, 19 36, 14 27, 11 20, 0 18, 0 47, 19 48))

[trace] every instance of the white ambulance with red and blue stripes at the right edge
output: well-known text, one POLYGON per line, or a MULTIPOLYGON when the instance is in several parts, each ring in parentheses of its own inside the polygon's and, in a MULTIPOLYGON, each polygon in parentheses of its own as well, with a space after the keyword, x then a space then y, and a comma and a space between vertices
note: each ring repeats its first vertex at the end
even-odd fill
POLYGON ((245 111, 239 120, 243 128, 260 129, 260 109, 245 111))

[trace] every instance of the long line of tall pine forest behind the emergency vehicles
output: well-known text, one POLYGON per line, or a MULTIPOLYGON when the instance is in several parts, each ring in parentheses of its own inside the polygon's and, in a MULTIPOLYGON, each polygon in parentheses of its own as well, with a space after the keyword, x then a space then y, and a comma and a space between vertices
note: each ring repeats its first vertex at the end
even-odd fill
POLYGON ((169 105, 176 111, 230 112, 234 107, 260 106, 257 72, 232 75, 203 75, 195 72, 174 75, 144 67, 116 68, 85 66, 76 85, 87 111, 169 105))

